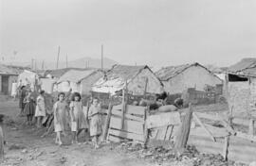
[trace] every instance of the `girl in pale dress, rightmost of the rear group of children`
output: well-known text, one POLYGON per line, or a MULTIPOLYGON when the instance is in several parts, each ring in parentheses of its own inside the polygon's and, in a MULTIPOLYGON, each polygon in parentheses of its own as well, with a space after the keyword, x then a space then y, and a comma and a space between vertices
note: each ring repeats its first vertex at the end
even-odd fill
POLYGON ((37 118, 37 127, 42 126, 43 118, 46 116, 45 91, 40 91, 40 95, 36 99, 35 117, 37 118))

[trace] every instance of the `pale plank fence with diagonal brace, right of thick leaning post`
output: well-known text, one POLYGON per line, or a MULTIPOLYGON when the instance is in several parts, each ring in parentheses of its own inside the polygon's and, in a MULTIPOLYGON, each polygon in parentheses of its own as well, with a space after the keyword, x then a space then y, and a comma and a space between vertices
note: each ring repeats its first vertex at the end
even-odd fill
POLYGON ((193 112, 189 143, 200 152, 248 163, 256 160, 255 142, 255 136, 233 129, 220 115, 193 112))

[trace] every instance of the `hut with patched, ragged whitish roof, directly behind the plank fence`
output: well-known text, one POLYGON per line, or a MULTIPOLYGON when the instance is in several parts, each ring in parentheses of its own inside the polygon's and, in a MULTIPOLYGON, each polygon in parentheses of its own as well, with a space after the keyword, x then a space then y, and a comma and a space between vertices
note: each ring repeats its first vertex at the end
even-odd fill
POLYGON ((127 91, 134 95, 147 93, 161 93, 161 81, 148 66, 114 65, 104 77, 101 77, 92 91, 115 94, 127 86, 127 91))

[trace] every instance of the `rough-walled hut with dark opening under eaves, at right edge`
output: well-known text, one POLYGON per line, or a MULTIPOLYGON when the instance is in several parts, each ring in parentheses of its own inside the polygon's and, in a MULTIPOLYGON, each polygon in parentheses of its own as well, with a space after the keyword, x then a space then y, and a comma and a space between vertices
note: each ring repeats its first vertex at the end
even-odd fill
POLYGON ((256 117, 256 58, 243 58, 226 76, 229 109, 234 116, 256 117))

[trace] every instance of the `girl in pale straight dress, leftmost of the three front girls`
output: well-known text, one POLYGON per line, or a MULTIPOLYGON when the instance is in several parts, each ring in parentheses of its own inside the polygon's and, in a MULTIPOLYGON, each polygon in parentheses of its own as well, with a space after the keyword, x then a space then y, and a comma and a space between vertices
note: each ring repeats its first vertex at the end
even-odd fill
POLYGON ((56 132, 55 143, 62 145, 61 132, 65 129, 66 103, 64 102, 64 92, 58 94, 58 101, 53 106, 54 130, 56 132))

